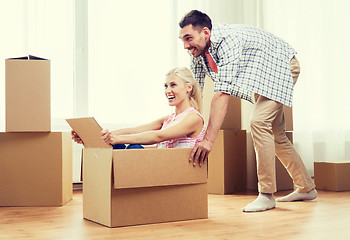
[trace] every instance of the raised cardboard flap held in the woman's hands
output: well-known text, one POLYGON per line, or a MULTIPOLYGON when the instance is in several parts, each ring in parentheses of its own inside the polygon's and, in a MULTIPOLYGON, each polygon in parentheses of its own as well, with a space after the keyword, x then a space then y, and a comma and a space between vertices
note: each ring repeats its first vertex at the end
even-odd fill
POLYGON ((93 117, 66 119, 84 142, 84 147, 111 148, 101 139, 101 126, 93 117))

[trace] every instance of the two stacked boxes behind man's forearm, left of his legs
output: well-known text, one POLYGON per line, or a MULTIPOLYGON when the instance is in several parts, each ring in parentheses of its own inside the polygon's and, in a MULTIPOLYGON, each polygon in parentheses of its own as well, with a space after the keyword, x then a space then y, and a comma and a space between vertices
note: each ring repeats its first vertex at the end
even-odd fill
MULTIPOLYGON (((203 116, 208 123, 214 83, 205 79, 203 116)), ((246 131, 241 130, 241 100, 230 97, 227 114, 208 157, 208 193, 229 194, 247 188, 246 131)))

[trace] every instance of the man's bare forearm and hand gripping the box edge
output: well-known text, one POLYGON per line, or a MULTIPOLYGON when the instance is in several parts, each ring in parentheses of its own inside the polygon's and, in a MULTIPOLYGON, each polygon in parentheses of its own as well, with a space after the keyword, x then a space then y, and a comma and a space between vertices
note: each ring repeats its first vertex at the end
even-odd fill
POLYGON ((230 99, 230 95, 222 92, 216 92, 211 101, 210 116, 207 132, 203 141, 196 144, 192 149, 189 161, 193 162, 193 165, 205 163, 210 151, 212 150, 216 136, 219 133, 221 125, 224 121, 227 104, 230 99))

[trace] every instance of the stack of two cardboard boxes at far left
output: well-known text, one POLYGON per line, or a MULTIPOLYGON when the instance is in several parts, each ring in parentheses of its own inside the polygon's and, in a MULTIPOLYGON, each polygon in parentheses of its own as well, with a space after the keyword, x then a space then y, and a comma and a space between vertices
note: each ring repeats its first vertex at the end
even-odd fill
POLYGON ((50 60, 5 60, 0 206, 62 206, 72 199, 72 142, 51 132, 50 60))

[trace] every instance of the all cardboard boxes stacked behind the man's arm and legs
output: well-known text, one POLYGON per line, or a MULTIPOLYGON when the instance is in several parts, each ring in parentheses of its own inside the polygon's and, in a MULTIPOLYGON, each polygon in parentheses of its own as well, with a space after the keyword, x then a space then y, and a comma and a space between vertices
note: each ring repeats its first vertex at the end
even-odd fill
MULTIPOLYGON (((205 79, 203 116, 208 123, 214 84, 205 79)), ((208 159, 208 193, 232 194, 257 190, 256 158, 250 132, 242 130, 241 100, 231 97, 227 115, 208 159), (250 166, 247 168, 247 166, 250 166), (250 185, 250 186, 248 186, 250 185)), ((292 109, 284 108, 287 137, 293 142, 292 109)), ((277 190, 293 189, 293 181, 276 158, 277 190)))

